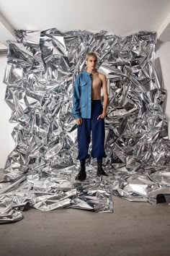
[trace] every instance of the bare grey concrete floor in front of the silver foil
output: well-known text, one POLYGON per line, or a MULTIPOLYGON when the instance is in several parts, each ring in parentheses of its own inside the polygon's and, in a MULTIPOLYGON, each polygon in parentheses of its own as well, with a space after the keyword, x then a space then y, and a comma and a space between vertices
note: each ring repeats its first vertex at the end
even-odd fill
POLYGON ((170 207, 113 197, 115 213, 24 211, 0 226, 0 255, 170 255, 170 207))

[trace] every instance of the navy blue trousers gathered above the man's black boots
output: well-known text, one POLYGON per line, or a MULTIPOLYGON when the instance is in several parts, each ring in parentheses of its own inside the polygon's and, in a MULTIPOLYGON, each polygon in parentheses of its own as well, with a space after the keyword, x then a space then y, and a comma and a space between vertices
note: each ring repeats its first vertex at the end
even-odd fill
POLYGON ((82 124, 77 127, 77 140, 79 155, 76 158, 79 161, 84 161, 89 158, 88 153, 89 143, 92 137, 91 157, 97 158, 97 161, 102 161, 102 158, 107 157, 104 152, 104 119, 97 117, 102 114, 103 107, 101 100, 91 101, 91 119, 82 118, 82 124))

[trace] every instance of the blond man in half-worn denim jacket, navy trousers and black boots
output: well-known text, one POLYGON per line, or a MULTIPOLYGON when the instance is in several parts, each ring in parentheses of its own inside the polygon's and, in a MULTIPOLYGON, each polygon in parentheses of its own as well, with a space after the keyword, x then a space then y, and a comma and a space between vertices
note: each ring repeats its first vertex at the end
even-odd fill
POLYGON ((86 179, 86 158, 88 153, 90 136, 92 135, 91 157, 97 158, 97 176, 107 174, 102 168, 102 158, 107 155, 104 152, 104 117, 107 114, 108 93, 106 76, 96 69, 97 55, 93 52, 86 54, 86 71, 81 71, 73 86, 73 111, 72 114, 77 124, 77 139, 81 168, 76 180, 86 179), (101 102, 101 89, 104 94, 104 103, 101 102))

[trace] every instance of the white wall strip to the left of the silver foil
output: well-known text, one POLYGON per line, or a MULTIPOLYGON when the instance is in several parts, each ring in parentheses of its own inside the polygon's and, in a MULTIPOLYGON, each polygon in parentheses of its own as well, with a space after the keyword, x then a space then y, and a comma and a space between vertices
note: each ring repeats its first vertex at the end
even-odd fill
POLYGON ((0 56, 0 168, 4 168, 6 158, 14 148, 12 129, 16 124, 9 123, 11 109, 4 101, 6 85, 2 82, 6 67, 6 56, 0 56))

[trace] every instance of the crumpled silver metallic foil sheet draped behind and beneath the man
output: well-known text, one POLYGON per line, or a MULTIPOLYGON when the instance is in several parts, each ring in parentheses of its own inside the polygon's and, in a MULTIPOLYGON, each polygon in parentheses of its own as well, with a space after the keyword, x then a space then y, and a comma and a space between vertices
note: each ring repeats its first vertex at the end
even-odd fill
MULTIPOLYGON (((0 223, 19 221, 28 205, 39 210, 77 208, 113 213, 112 195, 155 204, 170 199, 166 90, 154 67, 156 33, 120 37, 101 30, 61 33, 16 30, 8 41, 5 101, 15 148, 0 183, 0 223), (86 163, 87 179, 76 182, 76 123, 71 115, 73 80, 95 51, 107 76, 104 169, 86 163)), ((91 144, 89 146, 91 150, 91 144)))

